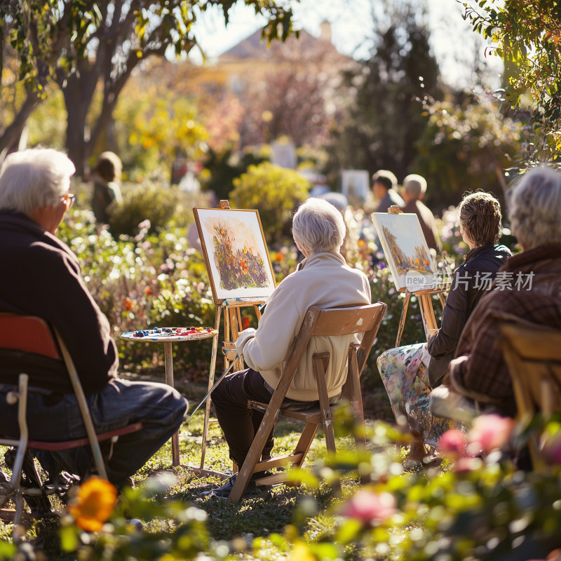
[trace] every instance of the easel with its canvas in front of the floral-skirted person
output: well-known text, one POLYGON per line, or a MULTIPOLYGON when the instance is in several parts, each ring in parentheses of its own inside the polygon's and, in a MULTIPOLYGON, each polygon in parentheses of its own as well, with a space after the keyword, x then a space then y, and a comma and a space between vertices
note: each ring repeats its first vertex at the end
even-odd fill
POLYGON ((401 212, 398 207, 390 207, 388 212, 372 212, 372 220, 391 271, 393 283, 398 292, 405 292, 396 347, 401 341, 411 295, 415 295, 419 299, 419 309, 428 341, 428 337, 438 330, 432 297, 438 295, 442 306, 444 306, 445 300, 444 289, 438 283, 437 270, 421 230, 419 217, 414 213, 401 212))

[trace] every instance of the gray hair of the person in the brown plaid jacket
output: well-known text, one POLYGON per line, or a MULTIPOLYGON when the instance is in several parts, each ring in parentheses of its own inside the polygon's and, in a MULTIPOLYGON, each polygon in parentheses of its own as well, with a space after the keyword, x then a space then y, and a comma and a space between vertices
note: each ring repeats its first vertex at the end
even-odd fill
POLYGON ((533 168, 507 196, 513 234, 526 250, 561 243, 561 172, 533 168))

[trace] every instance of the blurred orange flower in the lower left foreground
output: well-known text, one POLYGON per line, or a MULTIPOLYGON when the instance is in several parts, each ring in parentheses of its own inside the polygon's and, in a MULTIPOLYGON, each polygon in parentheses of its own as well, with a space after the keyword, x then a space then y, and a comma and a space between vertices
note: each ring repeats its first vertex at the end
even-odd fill
POLYGON ((88 479, 76 495, 68 511, 76 525, 86 532, 99 532, 115 508, 117 489, 101 478, 88 479))

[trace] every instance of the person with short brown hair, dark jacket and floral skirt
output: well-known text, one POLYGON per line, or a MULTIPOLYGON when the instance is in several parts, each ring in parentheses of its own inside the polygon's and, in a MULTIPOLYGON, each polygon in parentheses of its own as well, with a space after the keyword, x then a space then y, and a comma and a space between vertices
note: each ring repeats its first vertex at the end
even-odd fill
MULTIPOLYGON (((402 420, 431 446, 437 445, 440 435, 452 426, 450 421, 431 415, 431 388, 441 383, 475 304, 511 255, 508 248, 497 243, 501 207, 492 195, 477 192, 465 196, 459 205, 459 227, 469 252, 452 276, 440 330, 427 344, 389 349, 378 358, 378 370, 396 419, 405 417, 402 420)), ((410 459, 423 455, 420 445, 412 447, 410 459)))

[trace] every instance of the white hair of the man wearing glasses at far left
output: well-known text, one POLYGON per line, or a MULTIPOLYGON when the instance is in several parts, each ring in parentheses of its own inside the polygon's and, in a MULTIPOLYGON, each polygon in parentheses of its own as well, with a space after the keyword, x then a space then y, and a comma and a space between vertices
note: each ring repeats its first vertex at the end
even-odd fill
POLYGON ((30 215, 55 205, 67 192, 75 171, 68 156, 52 148, 14 152, 0 168, 0 208, 30 215))

